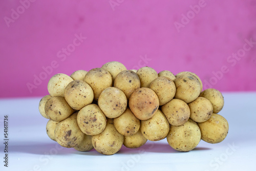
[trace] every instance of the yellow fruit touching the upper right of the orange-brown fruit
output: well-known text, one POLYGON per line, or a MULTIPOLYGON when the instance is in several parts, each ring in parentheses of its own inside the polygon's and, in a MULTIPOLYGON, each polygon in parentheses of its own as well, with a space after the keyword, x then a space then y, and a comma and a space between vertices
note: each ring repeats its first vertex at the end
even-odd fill
POLYGON ((164 105, 172 100, 176 93, 174 81, 167 77, 158 77, 151 82, 152 89, 159 98, 159 105, 164 105))

